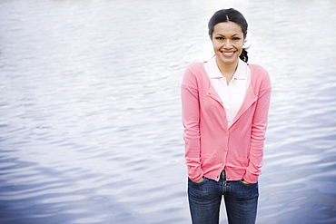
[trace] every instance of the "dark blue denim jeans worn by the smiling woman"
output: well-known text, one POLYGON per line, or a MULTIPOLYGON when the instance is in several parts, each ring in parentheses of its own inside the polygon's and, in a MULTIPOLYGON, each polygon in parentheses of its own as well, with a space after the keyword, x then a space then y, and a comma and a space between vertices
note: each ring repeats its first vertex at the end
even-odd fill
POLYGON ((201 183, 188 179, 188 199, 193 224, 218 224, 222 196, 230 224, 254 224, 258 206, 258 183, 205 178, 201 183))

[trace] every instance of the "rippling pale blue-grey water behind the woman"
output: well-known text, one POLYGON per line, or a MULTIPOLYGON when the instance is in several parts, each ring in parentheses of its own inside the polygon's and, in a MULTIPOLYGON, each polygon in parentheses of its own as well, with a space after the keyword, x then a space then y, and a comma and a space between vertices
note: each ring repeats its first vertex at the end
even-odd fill
POLYGON ((332 0, 2 0, 0 223, 190 223, 180 83, 227 7, 272 76, 258 223, 335 223, 332 0))

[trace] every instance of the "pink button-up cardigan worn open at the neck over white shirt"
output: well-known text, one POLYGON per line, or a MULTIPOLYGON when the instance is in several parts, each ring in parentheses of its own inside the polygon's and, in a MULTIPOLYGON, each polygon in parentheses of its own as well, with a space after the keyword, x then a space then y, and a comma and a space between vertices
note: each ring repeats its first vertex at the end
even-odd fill
POLYGON ((221 98, 211 85, 204 63, 192 63, 183 76, 183 139, 191 180, 258 181, 271 99, 269 74, 248 64, 251 83, 232 126, 228 128, 221 98))

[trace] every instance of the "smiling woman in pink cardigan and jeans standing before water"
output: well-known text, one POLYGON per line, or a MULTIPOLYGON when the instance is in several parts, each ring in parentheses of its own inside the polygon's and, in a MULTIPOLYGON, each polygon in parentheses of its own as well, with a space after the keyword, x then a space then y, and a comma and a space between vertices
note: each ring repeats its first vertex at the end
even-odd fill
POLYGON ((247 22, 235 9, 212 15, 215 56, 192 63, 182 83, 183 138, 193 223, 255 223, 258 177, 271 98, 270 78, 247 63, 247 22))

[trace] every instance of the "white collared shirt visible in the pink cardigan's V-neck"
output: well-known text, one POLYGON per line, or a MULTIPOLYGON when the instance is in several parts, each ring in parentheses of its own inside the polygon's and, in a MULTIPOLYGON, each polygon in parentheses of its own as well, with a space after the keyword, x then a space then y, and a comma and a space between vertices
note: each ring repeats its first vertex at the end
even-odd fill
POLYGON ((222 76, 219 70, 216 57, 204 63, 205 71, 208 73, 214 90, 218 93, 222 100, 222 105, 226 112, 228 127, 230 128, 232 122, 242 106, 242 101, 245 93, 251 82, 251 70, 247 63, 239 59, 236 72, 233 74, 232 80, 229 84, 226 83, 226 78, 222 76))

